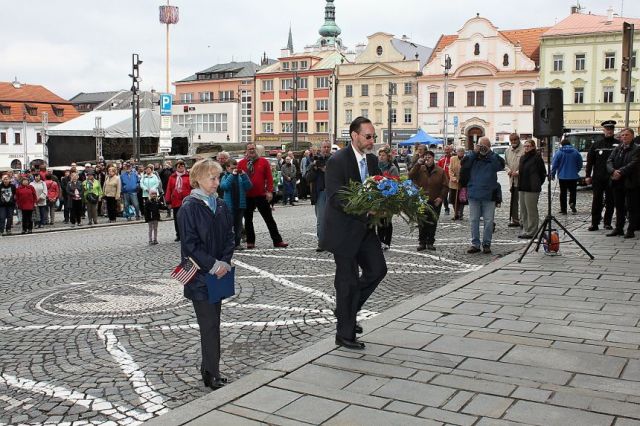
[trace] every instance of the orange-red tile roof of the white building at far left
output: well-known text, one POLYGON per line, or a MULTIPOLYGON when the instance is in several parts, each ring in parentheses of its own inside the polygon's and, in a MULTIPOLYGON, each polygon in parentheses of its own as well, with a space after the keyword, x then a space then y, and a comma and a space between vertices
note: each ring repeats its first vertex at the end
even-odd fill
POLYGON ((13 83, 0 82, 0 121, 40 123, 43 112, 48 113, 49 123, 64 123, 80 115, 69 101, 43 86, 20 84, 16 87, 13 83), (27 113, 27 106, 36 108, 35 115, 27 113), (8 114, 4 114, 7 108, 8 114))

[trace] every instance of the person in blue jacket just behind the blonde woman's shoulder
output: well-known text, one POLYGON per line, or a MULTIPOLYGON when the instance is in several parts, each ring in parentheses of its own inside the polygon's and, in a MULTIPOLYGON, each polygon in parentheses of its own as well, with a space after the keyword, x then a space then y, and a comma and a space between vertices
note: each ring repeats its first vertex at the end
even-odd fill
POLYGON ((222 177, 220 187, 224 191, 224 202, 227 203, 233 214, 233 230, 236 236, 236 250, 242 250, 240 245, 242 238, 242 218, 247 207, 247 191, 251 189, 249 176, 242 170, 238 170, 238 162, 229 160, 227 173, 222 177))

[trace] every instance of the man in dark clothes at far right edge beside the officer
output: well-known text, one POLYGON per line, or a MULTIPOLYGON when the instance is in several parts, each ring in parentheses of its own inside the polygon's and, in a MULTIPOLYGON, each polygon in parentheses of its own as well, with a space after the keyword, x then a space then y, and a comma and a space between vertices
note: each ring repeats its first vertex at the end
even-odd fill
POLYGON ((616 206, 616 227, 607 237, 623 235, 635 237, 638 229, 638 188, 640 187, 640 147, 633 143, 633 130, 626 128, 620 132, 622 142, 613 150, 607 161, 611 173, 611 188, 616 206), (624 221, 629 213, 629 226, 623 232, 624 221))

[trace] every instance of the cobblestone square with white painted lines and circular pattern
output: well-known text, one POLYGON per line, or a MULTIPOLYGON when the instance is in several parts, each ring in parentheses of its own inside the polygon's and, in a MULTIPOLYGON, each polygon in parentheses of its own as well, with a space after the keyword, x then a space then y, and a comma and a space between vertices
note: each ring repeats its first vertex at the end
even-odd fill
MULTIPOLYGON (((494 254, 467 255, 468 221, 442 216, 438 251, 394 224, 389 274, 363 311, 371 317, 524 244, 497 211, 494 254)), ((543 197, 541 197, 543 198, 543 197)), ((582 222, 590 193, 579 193, 582 222)), ((542 207, 542 204, 541 204, 542 207)), ((238 252, 237 295, 222 311, 222 371, 232 380, 331 335, 333 259, 316 253, 310 205, 279 207, 291 244, 273 249, 257 216, 257 249, 238 252)), ((135 424, 203 396, 193 308, 168 277, 173 224, 146 245, 146 225, 81 228, 0 239, 0 424, 135 424)))

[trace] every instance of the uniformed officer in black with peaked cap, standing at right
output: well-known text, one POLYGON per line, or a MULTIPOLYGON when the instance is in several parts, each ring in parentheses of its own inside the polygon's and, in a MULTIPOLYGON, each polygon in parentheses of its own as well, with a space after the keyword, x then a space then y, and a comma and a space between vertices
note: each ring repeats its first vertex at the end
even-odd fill
POLYGON ((586 184, 591 185, 593 201, 591 203, 591 226, 589 231, 597 231, 602 219, 602 205, 604 198, 604 229, 613 229, 613 194, 609 185, 607 160, 613 151, 613 145, 618 141, 613 137, 616 122, 607 120, 602 122, 604 139, 591 145, 587 153, 587 168, 585 171, 586 184))

